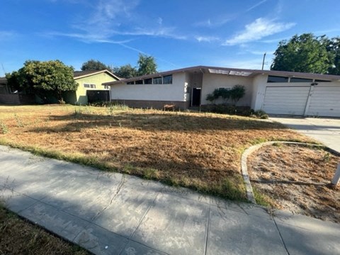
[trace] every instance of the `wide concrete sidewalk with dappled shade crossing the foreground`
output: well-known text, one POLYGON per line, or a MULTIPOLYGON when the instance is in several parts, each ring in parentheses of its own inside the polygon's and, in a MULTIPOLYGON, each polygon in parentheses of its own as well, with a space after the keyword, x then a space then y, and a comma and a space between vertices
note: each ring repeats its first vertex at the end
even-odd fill
POLYGON ((6 206, 94 254, 340 254, 340 225, 0 146, 6 206))

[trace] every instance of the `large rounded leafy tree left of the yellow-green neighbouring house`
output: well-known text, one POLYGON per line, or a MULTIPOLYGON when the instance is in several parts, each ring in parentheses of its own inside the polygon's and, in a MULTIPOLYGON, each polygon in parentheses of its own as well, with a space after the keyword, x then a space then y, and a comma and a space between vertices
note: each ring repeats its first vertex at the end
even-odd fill
POLYGON ((62 101, 64 91, 76 91, 78 84, 73 78, 74 69, 59 60, 28 60, 18 71, 6 74, 8 84, 21 91, 37 94, 45 103, 51 97, 62 101))

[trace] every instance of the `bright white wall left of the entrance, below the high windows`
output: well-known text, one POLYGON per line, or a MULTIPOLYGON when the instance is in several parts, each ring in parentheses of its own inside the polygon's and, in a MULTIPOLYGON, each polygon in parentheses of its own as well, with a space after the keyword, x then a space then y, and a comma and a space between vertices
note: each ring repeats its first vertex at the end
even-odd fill
POLYGON ((186 85, 186 73, 173 74, 172 84, 115 84, 111 86, 111 100, 188 101, 186 85))

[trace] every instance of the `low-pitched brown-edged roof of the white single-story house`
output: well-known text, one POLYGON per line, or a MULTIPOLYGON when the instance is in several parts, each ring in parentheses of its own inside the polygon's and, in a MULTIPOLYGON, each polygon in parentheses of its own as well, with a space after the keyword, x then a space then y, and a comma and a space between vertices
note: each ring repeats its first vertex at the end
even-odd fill
POLYGON ((325 79, 325 80, 340 80, 340 75, 331 74, 312 74, 312 73, 302 73, 302 72, 286 72, 286 71, 273 71, 273 70, 258 70, 258 69, 239 69, 239 68, 228 68, 228 67, 208 67, 208 66, 196 66, 196 67, 186 67, 181 69, 174 69, 166 72, 158 72, 155 74, 147 74, 140 77, 133 77, 129 79, 120 79, 119 81, 110 81, 103 83, 103 85, 114 85, 122 84, 129 81, 138 81, 142 79, 163 77, 169 74, 176 74, 180 72, 203 72, 204 74, 225 74, 241 77, 254 77, 258 74, 268 74, 273 76, 282 77, 298 77, 298 78, 309 78, 309 79, 325 79))

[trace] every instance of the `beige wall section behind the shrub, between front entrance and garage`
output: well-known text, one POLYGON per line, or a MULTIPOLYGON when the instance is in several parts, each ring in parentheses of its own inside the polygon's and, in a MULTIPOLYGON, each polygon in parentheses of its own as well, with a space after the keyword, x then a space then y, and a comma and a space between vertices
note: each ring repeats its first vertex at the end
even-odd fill
MULTIPOLYGON (((246 89, 246 94, 239 100, 237 106, 250 106, 253 78, 240 77, 240 76, 227 76, 225 74, 203 74, 201 104, 210 104, 205 98, 208 94, 218 88, 233 87, 234 85, 243 85, 246 89)), ((222 103, 222 101, 216 101, 216 103, 222 103)))

